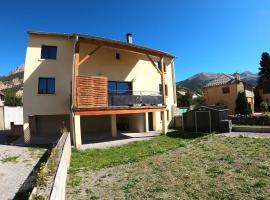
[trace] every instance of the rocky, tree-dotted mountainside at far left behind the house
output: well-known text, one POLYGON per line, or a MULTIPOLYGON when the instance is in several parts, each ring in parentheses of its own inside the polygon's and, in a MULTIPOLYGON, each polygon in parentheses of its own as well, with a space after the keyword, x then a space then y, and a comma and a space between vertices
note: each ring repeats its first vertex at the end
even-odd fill
POLYGON ((24 64, 15 67, 11 72, 4 76, 0 76, 0 91, 4 94, 15 92, 16 96, 23 95, 23 73, 24 64))

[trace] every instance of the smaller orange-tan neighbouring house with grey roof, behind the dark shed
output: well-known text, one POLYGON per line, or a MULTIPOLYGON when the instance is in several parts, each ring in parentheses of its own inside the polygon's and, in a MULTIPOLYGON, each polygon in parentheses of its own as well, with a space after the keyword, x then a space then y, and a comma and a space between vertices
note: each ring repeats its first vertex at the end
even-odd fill
POLYGON ((238 93, 245 92, 250 109, 254 113, 253 86, 241 81, 238 73, 234 76, 224 74, 210 81, 204 89, 207 105, 225 105, 231 115, 234 114, 238 93))

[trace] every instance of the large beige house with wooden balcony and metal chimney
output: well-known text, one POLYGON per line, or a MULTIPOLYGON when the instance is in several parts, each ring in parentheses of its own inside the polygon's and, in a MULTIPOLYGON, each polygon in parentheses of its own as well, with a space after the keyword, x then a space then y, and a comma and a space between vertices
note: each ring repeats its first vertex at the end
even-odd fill
POLYGON ((176 106, 175 57, 81 34, 29 32, 24 140, 65 128, 76 146, 94 135, 167 132, 176 106))

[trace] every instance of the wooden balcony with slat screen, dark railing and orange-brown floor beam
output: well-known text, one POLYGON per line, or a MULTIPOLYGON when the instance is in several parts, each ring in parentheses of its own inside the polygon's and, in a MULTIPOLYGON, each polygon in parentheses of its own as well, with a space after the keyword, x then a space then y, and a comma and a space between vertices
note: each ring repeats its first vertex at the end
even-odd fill
POLYGON ((147 91, 110 91, 108 78, 77 76, 74 111, 78 115, 110 115, 163 111, 163 96, 147 91))

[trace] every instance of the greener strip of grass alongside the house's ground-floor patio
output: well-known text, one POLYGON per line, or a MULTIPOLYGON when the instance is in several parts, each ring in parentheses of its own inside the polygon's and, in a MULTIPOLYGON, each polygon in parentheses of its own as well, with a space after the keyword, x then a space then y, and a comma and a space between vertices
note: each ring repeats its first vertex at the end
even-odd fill
POLYGON ((148 141, 109 149, 73 150, 70 173, 84 168, 99 169, 137 162, 149 156, 183 147, 189 143, 190 138, 197 136, 200 136, 200 134, 189 135, 173 132, 169 136, 155 137, 148 141))

